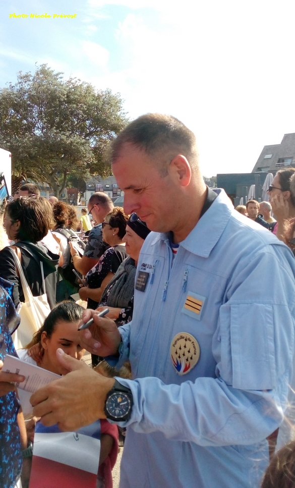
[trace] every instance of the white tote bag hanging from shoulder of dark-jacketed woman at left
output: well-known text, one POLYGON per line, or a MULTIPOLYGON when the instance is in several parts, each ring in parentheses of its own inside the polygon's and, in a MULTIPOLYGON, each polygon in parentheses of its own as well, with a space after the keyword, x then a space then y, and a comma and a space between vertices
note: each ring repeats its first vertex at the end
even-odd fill
POLYGON ((12 335, 14 346, 16 349, 23 349, 29 342, 31 342, 33 335, 43 325, 43 322, 50 312, 50 307, 45 293, 45 281, 43 273, 43 263, 40 261, 42 285, 44 294, 39 297, 33 297, 30 287, 25 278, 21 262, 15 253, 15 261, 19 272, 20 282, 25 297, 25 301, 18 306, 18 313, 21 318, 19 327, 12 335))

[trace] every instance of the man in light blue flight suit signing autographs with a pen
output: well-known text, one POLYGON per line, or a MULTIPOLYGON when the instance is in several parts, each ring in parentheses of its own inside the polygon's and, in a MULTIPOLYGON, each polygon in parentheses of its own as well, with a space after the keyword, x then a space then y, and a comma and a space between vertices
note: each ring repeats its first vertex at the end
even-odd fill
POLYGON ((194 134, 172 117, 127 126, 112 170, 125 211, 155 232, 132 322, 117 330, 87 310, 94 324, 80 335, 117 367, 129 357, 133 380, 61 354, 72 372, 32 396, 34 414, 65 430, 105 417, 127 426, 122 488, 258 487, 292 378, 292 253, 205 186, 194 134))

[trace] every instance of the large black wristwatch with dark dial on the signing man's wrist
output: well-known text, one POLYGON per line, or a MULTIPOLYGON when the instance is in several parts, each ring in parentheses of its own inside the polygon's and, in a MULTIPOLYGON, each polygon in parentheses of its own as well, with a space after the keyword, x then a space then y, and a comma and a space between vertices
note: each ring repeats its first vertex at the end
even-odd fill
POLYGON ((106 418, 117 422, 129 420, 133 405, 130 388, 115 380, 112 389, 106 394, 104 413, 106 418))

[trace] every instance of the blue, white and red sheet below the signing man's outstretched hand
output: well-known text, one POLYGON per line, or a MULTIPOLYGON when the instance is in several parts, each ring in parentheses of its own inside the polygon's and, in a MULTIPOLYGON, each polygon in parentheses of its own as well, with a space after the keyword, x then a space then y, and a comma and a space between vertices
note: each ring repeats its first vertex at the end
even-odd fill
POLYGON ((77 432, 36 424, 29 488, 95 488, 100 421, 77 432))

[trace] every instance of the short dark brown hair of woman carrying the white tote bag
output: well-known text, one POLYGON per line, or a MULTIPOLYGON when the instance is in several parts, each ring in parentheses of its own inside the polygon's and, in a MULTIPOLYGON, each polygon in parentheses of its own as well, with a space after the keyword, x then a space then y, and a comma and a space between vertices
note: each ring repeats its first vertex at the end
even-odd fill
POLYGON ((22 197, 10 202, 6 211, 13 223, 19 221, 16 239, 38 242, 51 228, 53 215, 46 198, 22 197))

